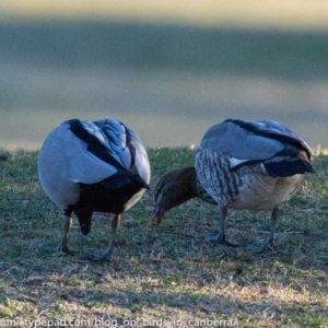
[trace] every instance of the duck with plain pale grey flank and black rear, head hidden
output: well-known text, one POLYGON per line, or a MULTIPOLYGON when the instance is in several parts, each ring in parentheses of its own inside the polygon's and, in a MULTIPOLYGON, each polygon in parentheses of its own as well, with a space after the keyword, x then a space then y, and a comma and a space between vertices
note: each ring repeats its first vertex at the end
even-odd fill
POLYGON ((94 212, 113 213, 106 250, 87 255, 109 260, 122 213, 150 189, 150 161, 139 136, 117 119, 66 120, 45 139, 37 168, 43 189, 63 214, 60 251, 71 253, 72 213, 83 235, 91 232, 94 212))

